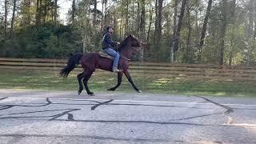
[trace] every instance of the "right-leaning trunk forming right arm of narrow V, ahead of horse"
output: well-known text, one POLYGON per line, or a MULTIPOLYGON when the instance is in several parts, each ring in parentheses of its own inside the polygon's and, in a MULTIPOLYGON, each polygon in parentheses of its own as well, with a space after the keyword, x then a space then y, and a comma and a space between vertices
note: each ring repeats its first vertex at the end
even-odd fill
POLYGON ((187 2, 187 0, 182 0, 181 14, 178 17, 177 32, 176 32, 176 36, 175 36, 175 40, 174 40, 174 52, 178 51, 178 42, 179 42, 180 32, 182 30, 182 19, 184 17, 184 13, 185 13, 186 2, 187 2))

